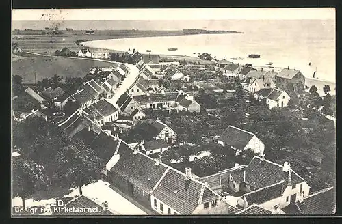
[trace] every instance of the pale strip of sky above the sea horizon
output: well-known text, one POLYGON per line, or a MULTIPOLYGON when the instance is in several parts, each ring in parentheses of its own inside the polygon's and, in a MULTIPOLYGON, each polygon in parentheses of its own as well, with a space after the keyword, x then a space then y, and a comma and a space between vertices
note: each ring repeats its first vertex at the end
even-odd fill
POLYGON ((334 8, 12 10, 12 20, 335 19, 334 8), (176 16, 175 16, 176 15, 176 16))

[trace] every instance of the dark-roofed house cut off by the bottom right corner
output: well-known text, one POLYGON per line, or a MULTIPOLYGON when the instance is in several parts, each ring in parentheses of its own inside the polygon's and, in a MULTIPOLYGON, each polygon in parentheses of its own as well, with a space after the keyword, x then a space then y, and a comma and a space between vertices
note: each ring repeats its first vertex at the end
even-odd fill
POLYGON ((282 210, 286 214, 334 214, 336 212, 336 190, 332 186, 305 198, 299 197, 282 210))

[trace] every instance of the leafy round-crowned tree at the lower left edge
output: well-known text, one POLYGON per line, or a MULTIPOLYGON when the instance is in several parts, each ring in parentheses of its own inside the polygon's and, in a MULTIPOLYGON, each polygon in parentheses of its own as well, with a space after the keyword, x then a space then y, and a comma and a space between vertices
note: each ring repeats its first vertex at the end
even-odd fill
POLYGON ((12 192, 14 197, 21 197, 23 208, 25 199, 36 191, 47 188, 49 178, 44 173, 44 167, 33 160, 20 156, 12 159, 12 192))

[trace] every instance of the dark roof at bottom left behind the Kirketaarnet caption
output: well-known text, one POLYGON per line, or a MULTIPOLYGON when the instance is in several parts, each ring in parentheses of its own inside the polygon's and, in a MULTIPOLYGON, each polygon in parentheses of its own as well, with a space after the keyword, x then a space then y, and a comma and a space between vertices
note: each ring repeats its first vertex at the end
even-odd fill
MULTIPOLYGON (((70 213, 70 212, 66 212, 65 215, 72 215, 72 216, 79 216, 79 215, 114 215, 112 212, 110 212, 109 210, 104 210, 103 206, 98 205, 95 201, 92 201, 92 199, 89 199, 88 197, 84 196, 84 195, 80 195, 79 197, 77 197, 76 199, 73 199, 71 201, 69 201, 66 204, 66 208, 98 208, 97 211, 98 212, 92 212, 92 209, 90 210, 83 210, 83 212, 81 212, 81 210, 79 210, 79 212, 75 212, 74 213, 70 213)), ((59 214, 60 215, 60 214, 59 214)))

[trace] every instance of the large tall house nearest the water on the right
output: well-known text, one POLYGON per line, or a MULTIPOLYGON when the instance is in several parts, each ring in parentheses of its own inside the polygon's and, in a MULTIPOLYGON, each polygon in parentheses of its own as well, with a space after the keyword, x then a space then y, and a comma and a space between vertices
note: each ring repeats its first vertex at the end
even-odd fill
POLYGON ((283 68, 276 75, 277 87, 280 89, 291 89, 294 92, 304 92, 305 77, 300 70, 283 68))

